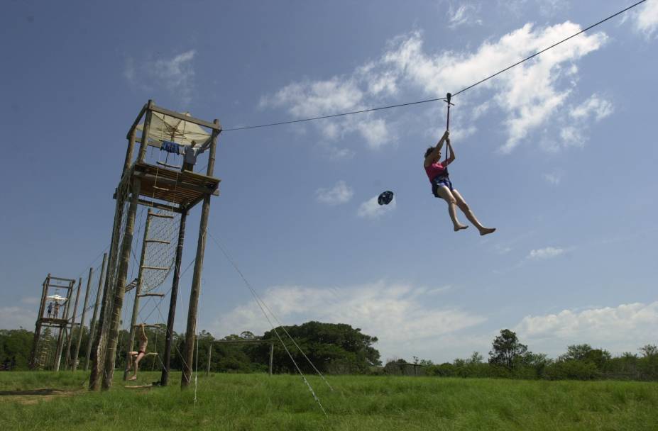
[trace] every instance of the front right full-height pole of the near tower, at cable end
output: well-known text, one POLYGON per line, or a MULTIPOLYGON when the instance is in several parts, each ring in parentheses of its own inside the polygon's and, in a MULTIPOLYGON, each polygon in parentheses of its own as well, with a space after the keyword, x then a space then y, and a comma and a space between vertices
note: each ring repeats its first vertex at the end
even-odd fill
MULTIPOLYGON (((219 125, 219 121, 215 120, 219 125)), ((218 130, 212 131, 212 142, 208 156, 207 176, 212 177, 215 167, 215 152, 217 147, 218 130)), ((210 214, 210 197, 207 194, 203 199, 201 220, 199 222, 199 239, 197 240, 197 257, 194 261, 194 274, 192 275, 192 291, 190 291, 190 306, 187 308, 187 328, 185 330, 185 351, 183 352, 183 370, 180 378, 180 387, 187 388, 192 379, 192 360, 194 359, 194 335, 197 333, 197 308, 199 296, 201 295, 201 273, 203 269, 203 257, 206 249, 206 230, 208 228, 208 216, 210 214)))

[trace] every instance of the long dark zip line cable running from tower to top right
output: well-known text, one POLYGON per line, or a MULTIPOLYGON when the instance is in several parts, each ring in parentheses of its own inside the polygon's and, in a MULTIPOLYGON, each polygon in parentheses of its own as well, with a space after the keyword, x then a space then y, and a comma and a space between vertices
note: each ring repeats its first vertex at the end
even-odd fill
MULTIPOLYGON (((571 38, 575 38, 577 35, 581 35, 582 33, 585 33, 587 30, 591 30, 592 28, 594 28, 594 27, 596 27, 596 26, 599 26, 599 25, 605 23, 605 21, 608 21, 608 20, 610 20, 610 19, 612 19, 612 18, 615 18, 615 16, 621 15, 622 13, 624 13, 624 12, 626 12, 626 11, 629 11, 630 9, 633 9, 635 6, 638 6, 638 5, 642 4, 642 3, 644 3, 645 1, 647 1, 647 0, 640 0, 640 1, 638 1, 637 3, 635 3, 635 4, 632 4, 631 6, 628 6, 627 8, 622 9, 621 11, 618 11, 617 13, 613 13, 613 15, 610 15, 610 16, 608 16, 607 18, 603 18, 601 21, 598 21, 598 23, 594 23, 594 24, 592 24, 591 26, 589 26, 589 27, 587 27, 587 28, 585 28, 585 29, 583 29, 583 30, 580 30, 578 33, 574 33, 573 35, 569 36, 568 38, 564 38, 564 39, 560 40, 559 42, 556 42, 556 43, 554 43, 553 45, 544 48, 543 50, 540 50, 540 51, 535 52, 534 54, 530 55, 530 57, 525 57, 523 60, 520 60, 520 61, 518 61, 518 62, 515 62, 513 65, 510 65, 510 66, 508 66, 508 67, 505 67, 505 69, 501 69, 501 70, 499 70, 498 72, 495 72, 495 74, 492 74, 492 75, 490 75, 490 76, 488 76, 488 77, 486 77, 486 78, 484 78, 484 79, 481 79, 480 81, 476 82, 475 84, 471 84, 471 85, 465 87, 464 89, 461 89, 461 90, 457 91, 456 93, 453 93, 452 96, 454 97, 454 96, 456 96, 457 94, 464 93, 464 91, 469 90, 469 89, 472 89, 474 86, 478 86, 478 85, 482 84, 483 82, 488 81, 489 79, 491 79, 491 78, 493 78, 493 77, 497 77, 499 74, 501 74, 501 73, 503 73, 503 72, 507 72, 509 69, 512 69, 512 67, 517 67, 517 66, 520 65, 521 63, 523 63, 523 62, 527 62, 528 60, 530 60, 530 59, 532 59, 532 58, 534 58, 534 57, 537 57, 537 55, 540 55, 540 54, 542 54, 543 52, 546 52, 546 51, 548 51, 548 50, 550 50, 550 49, 556 47, 557 45, 560 45, 561 43, 566 42, 567 40, 569 40, 569 39, 571 39, 571 38)), ((379 107, 377 107, 377 108, 361 109, 360 111, 351 111, 351 112, 344 112, 344 113, 334 113, 334 114, 327 115, 327 116, 319 116, 319 117, 311 117, 311 118, 301 118, 300 120, 291 120, 291 121, 280 121, 280 122, 278 122, 278 123, 268 123, 268 124, 261 124, 261 125, 246 125, 246 126, 243 126, 243 127, 235 127, 235 128, 223 129, 223 130, 221 130, 221 131, 222 131, 222 132, 232 132, 232 131, 235 131, 235 130, 247 130, 247 129, 256 129, 256 128, 271 127, 271 126, 273 126, 273 125, 284 125, 284 124, 292 124, 292 123, 303 123, 303 122, 305 122, 305 121, 315 121, 315 120, 322 120, 322 119, 324 119, 324 118, 336 118, 336 117, 341 117, 341 116, 351 116, 351 115, 356 114, 356 113, 366 113, 366 112, 372 112, 372 111, 382 111, 383 109, 400 108, 400 107, 402 107, 402 106, 419 105, 420 103, 429 103, 429 102, 436 102, 436 101, 446 101, 446 98, 444 98, 444 97, 439 97, 439 98, 435 98, 435 99, 426 99, 426 100, 415 101, 415 102, 399 103, 399 104, 397 104, 397 105, 379 106, 379 107)))

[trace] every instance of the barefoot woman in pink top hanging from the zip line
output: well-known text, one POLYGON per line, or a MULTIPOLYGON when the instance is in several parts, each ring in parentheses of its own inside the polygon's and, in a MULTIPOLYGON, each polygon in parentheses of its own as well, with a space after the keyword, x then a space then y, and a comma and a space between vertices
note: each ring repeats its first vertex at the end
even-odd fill
POLYGON ((454 189, 452 183, 450 182, 448 177, 448 165, 454 162, 455 153, 452 149, 452 145, 450 145, 449 135, 449 131, 446 130, 446 133, 444 133, 441 139, 439 139, 439 142, 437 142, 437 146, 429 147, 425 151, 425 162, 423 165, 425 168, 425 173, 429 178, 429 182, 432 183, 432 194, 434 194, 434 196, 437 198, 442 198, 448 203, 448 213, 450 215, 450 219, 452 220, 452 224, 454 225, 455 232, 468 228, 468 225, 462 225, 457 219, 455 206, 459 206, 459 209, 462 213, 464 213, 464 215, 466 215, 466 218, 468 218, 468 220, 470 220, 471 223, 473 223, 473 225, 478 228, 480 235, 488 235, 493 233, 495 232, 495 228, 485 228, 478 221, 475 214, 473 214, 473 211, 471 211, 471 208, 468 207, 468 203, 464 201, 464 198, 461 197, 459 191, 454 189), (447 145, 447 157, 444 162, 441 162, 441 150, 444 142, 447 145))

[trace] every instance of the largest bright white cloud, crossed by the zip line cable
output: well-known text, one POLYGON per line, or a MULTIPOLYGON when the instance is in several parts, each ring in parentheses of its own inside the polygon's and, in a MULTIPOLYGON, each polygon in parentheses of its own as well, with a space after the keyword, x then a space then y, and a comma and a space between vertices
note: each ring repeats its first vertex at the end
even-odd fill
MULTIPOLYGON (((467 9, 453 11, 455 22, 464 19, 467 9)), ((356 67, 351 74, 289 84, 263 96, 261 107, 285 108, 293 118, 307 118, 395 103, 399 99, 390 96, 402 93, 419 98, 440 97, 447 90, 465 88, 579 30, 581 26, 569 21, 544 28, 527 23, 498 40, 482 43, 475 50, 437 53, 426 52, 422 33, 412 32, 390 40, 378 59, 356 67)), ((559 135, 556 128, 547 129, 558 123, 556 119, 564 122, 569 117, 569 98, 573 97, 578 81, 575 63, 598 50, 605 40, 604 33, 579 35, 460 95, 460 111, 470 110, 473 114, 462 127, 461 138, 475 133, 477 128, 473 123, 493 107, 505 115, 503 130, 507 137, 500 146, 503 152, 512 151, 522 142, 542 142, 534 139, 532 133, 559 135)), ((434 111, 436 106, 428 109, 434 111)), ((574 108, 576 115, 579 109, 593 112, 585 119, 601 119, 609 115, 611 104, 595 95, 574 108)), ((357 133, 373 149, 395 142, 395 123, 372 112, 319 121, 315 126, 329 140, 357 133)), ((573 142, 563 140, 546 147, 557 150, 570 144, 573 142)))

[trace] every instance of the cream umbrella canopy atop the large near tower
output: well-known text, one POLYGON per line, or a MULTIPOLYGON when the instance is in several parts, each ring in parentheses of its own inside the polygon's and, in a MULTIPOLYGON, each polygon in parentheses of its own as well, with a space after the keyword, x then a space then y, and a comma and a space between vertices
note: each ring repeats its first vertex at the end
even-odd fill
MULTIPOLYGON (((183 113, 190 116, 189 112, 183 113)), ((144 129, 143 124, 137 125, 138 132, 144 129)), ((180 120, 178 118, 165 116, 163 113, 153 112, 150 118, 150 128, 148 128, 148 144, 158 142, 155 146, 160 147, 163 141, 176 142, 180 145, 203 145, 210 139, 207 133, 200 125, 190 123, 190 121, 180 120)))

